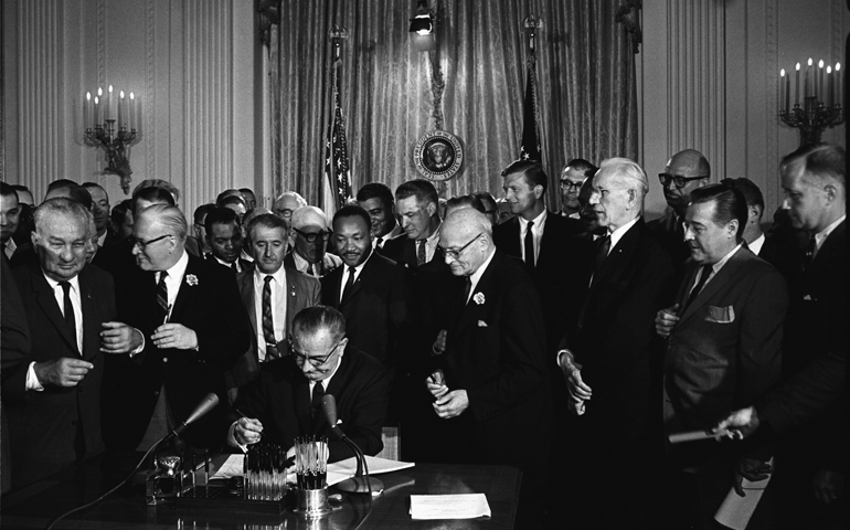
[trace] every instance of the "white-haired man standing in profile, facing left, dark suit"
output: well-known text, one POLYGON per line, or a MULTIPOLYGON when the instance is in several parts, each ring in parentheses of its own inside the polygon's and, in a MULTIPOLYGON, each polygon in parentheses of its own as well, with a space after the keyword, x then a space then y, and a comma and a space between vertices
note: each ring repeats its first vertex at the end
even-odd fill
POLYGON ((661 462, 654 418, 663 344, 655 316, 672 299, 673 269, 641 219, 649 191, 644 170, 612 158, 592 186, 588 208, 606 233, 594 243, 591 267, 575 273, 591 287, 574 300, 577 320, 566 328, 557 354, 570 390, 563 406, 582 414, 566 433, 567 452, 581 458, 567 458, 564 471, 583 478, 569 492, 578 527, 642 528, 655 515, 654 477, 661 462))

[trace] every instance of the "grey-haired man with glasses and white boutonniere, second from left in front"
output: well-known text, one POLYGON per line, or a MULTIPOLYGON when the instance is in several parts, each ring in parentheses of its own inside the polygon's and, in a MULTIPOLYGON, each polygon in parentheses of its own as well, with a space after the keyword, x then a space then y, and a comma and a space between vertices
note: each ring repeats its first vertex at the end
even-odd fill
MULTIPOLYGON (((104 441, 118 452, 147 451, 185 420, 210 392, 224 401, 224 371, 251 343, 251 325, 231 271, 190 255, 183 213, 168 204, 137 211, 138 267, 118 288, 121 321, 144 347, 110 356, 104 385, 104 441)), ((210 447, 215 416, 193 423, 183 439, 210 447)))

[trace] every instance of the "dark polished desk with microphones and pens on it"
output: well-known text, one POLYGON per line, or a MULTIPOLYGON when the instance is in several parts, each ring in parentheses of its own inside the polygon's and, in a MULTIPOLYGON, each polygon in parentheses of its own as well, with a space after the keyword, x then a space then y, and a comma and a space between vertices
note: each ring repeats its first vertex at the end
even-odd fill
MULTIPOLYGON (((517 513, 520 473, 508 466, 461 466, 418 464, 415 467, 380 475, 384 492, 374 498, 372 515, 362 528, 386 529, 510 529, 517 513), (410 517, 410 496, 423 494, 484 492, 492 510, 490 519, 414 521, 410 517)), ((0 528, 44 529, 49 521, 82 506, 118 484, 120 478, 100 473, 99 458, 0 499, 0 528)), ((331 492, 333 488, 331 488, 331 492)), ((285 516, 234 515, 211 509, 189 512, 170 506, 148 507, 140 490, 125 487, 99 505, 75 513, 55 528, 86 530, 332 530, 350 529, 366 511, 364 495, 347 495, 342 506, 325 519, 307 521, 294 513, 285 516)))

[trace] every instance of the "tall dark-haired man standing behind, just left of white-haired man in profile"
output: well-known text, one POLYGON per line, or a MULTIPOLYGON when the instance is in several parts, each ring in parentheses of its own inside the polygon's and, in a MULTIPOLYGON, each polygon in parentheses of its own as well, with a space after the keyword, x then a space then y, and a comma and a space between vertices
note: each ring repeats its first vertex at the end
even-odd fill
MULTIPOLYGON (((548 178, 538 162, 517 160, 502 171, 504 199, 517 216, 493 227, 496 246, 525 263, 543 303, 548 351, 553 351, 563 327, 560 321, 563 300, 571 297, 570 278, 564 268, 571 256, 564 245, 581 232, 581 223, 549 212, 545 208, 548 178)), ((551 359, 546 364, 550 370, 551 359)), ((560 375, 559 375, 560 377, 560 375)))

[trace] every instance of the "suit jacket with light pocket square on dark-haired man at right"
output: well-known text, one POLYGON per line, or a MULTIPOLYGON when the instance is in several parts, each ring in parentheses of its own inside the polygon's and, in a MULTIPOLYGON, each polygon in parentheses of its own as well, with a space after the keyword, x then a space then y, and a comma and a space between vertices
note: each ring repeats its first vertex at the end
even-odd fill
MULTIPOLYGON (((700 265, 689 262, 684 307, 700 265)), ((782 275, 742 246, 702 288, 670 333, 665 367, 668 432, 711 428, 780 378, 788 293, 782 275)))

